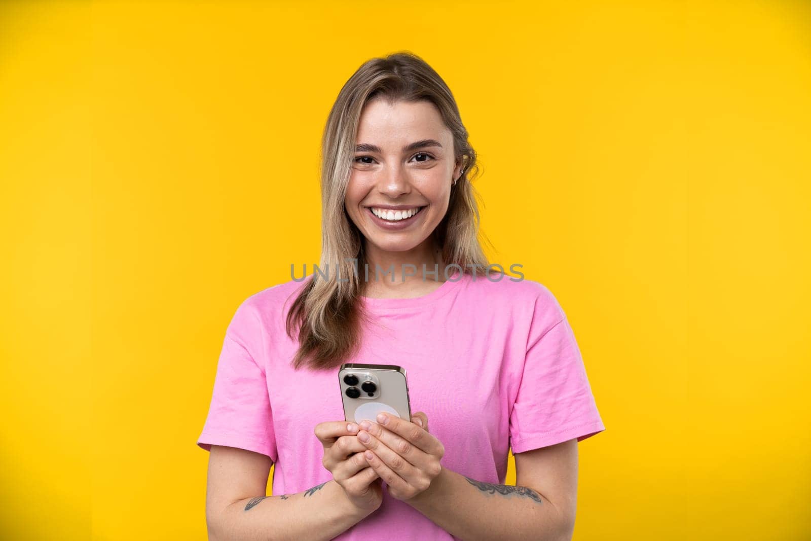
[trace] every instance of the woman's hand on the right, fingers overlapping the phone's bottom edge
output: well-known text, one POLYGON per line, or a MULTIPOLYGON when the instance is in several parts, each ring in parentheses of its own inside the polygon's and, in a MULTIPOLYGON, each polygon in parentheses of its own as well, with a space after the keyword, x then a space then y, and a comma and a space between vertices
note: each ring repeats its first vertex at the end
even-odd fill
POLYGON ((411 416, 414 423, 382 415, 385 422, 380 416, 377 423, 364 421, 368 429, 361 423, 358 440, 366 445, 367 461, 388 485, 388 493, 397 500, 410 500, 431 487, 440 474, 445 448, 428 433, 428 416, 422 411, 411 416), (368 441, 363 441, 364 434, 369 435, 368 441))

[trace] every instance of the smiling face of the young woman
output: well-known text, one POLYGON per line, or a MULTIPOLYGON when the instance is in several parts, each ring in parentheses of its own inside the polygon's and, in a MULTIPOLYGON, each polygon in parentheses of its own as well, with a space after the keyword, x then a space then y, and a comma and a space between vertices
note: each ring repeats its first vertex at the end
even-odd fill
POLYGON ((436 106, 372 100, 361 114, 356 145, 345 207, 367 247, 419 247, 442 221, 451 183, 461 173, 453 135, 436 106))

